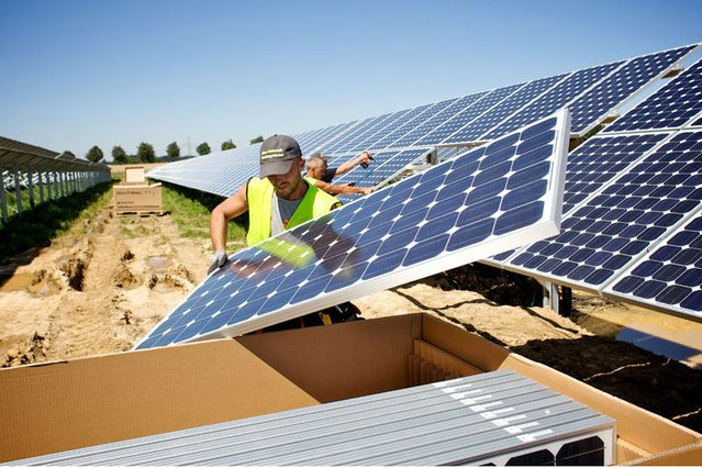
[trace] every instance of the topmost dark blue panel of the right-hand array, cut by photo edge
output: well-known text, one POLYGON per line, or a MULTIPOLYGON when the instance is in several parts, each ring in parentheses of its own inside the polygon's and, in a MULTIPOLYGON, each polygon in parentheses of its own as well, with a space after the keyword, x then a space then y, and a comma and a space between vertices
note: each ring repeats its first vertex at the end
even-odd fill
POLYGON ((604 132, 678 129, 702 111, 702 59, 640 104, 611 124, 604 132))

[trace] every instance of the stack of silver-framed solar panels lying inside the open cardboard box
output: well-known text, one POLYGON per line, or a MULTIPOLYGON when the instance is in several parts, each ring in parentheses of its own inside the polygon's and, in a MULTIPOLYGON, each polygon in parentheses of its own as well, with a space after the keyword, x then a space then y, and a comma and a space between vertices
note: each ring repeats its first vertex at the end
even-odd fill
POLYGON ((10 465, 609 466, 615 439, 612 419, 498 370, 10 465))

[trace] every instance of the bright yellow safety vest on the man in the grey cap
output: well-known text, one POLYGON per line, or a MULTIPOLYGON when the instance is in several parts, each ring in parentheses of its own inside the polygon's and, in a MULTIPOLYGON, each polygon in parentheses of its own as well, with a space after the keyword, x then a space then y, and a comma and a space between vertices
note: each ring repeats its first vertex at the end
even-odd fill
MULTIPOLYGON (((316 188, 314 183, 303 178, 308 185, 304 198, 290 218, 286 230, 302 224, 313 218, 332 211, 339 201, 316 188)), ((272 216, 274 186, 268 179, 252 177, 246 187, 248 200, 248 233, 246 244, 254 245, 270 237, 270 219, 272 216)))

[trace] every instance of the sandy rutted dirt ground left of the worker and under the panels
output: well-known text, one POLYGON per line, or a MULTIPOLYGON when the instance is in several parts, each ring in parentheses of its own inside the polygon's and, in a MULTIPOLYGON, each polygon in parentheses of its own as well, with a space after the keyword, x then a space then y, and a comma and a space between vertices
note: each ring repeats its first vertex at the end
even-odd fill
MULTIPOLYGON (((168 214, 113 216, 105 210, 88 223, 87 235, 0 258, 2 367, 127 350, 205 276, 209 241, 180 237, 168 214)), ((460 271, 464 280, 466 271, 460 271)), ((500 304, 520 302, 525 291, 510 279, 487 281, 473 292, 456 289, 456 275, 437 275, 354 303, 365 319, 434 314, 702 432, 700 370, 615 341, 616 330, 588 314, 624 305, 576 296, 577 319, 571 321, 544 308, 500 304), (495 286, 512 301, 495 299, 490 293, 495 286)))

